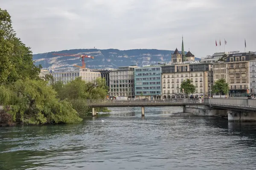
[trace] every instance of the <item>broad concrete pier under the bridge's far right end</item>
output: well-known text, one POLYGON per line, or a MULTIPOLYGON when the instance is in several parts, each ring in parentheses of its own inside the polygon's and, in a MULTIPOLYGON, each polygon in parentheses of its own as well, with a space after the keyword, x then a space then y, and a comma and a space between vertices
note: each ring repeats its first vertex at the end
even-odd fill
POLYGON ((229 122, 242 122, 242 121, 251 121, 256 122, 256 113, 244 112, 244 111, 227 111, 228 121, 229 122))

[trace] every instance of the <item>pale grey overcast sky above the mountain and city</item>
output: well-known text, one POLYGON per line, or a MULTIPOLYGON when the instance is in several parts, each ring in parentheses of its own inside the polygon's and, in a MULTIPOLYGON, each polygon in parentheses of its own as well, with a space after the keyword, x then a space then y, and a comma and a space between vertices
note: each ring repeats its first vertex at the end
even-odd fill
POLYGON ((182 36, 184 50, 198 58, 224 51, 224 39, 225 51, 256 51, 256 0, 0 0, 0 8, 33 54, 94 47, 181 51, 182 36))

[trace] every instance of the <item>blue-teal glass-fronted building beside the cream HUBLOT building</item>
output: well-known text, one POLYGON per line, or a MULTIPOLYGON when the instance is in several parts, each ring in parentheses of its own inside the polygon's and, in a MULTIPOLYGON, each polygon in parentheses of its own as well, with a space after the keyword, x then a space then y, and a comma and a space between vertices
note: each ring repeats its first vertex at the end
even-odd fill
POLYGON ((134 91, 137 98, 161 99, 161 65, 143 65, 135 68, 134 91))

